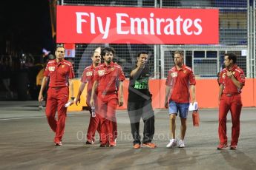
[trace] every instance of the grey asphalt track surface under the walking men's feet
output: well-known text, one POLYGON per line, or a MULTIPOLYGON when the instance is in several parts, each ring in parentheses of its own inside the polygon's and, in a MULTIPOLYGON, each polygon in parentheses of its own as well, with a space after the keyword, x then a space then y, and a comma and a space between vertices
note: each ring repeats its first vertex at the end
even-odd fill
MULTIPOLYGON (((85 145, 88 111, 68 112, 62 146, 36 101, 0 101, 0 169, 256 169, 256 109, 243 108, 237 150, 216 149, 217 109, 200 109, 200 126, 188 115, 186 148, 166 149, 169 137, 165 109, 155 110, 156 149, 132 148, 131 128, 125 110, 117 111, 116 147, 85 145)), ((141 122, 141 132, 143 123, 141 122)), ((230 143, 231 117, 228 116, 230 143)), ((180 135, 180 118, 177 119, 180 135)))

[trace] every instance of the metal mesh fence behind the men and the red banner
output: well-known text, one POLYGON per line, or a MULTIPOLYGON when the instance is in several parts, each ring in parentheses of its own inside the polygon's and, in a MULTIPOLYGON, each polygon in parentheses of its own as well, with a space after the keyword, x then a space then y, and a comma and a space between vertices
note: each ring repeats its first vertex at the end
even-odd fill
POLYGON ((149 51, 153 78, 165 78, 168 69, 174 66, 175 50, 183 50, 185 64, 192 67, 197 78, 216 78, 223 66, 223 55, 234 52, 237 65, 247 78, 255 78, 255 1, 256 0, 61 0, 62 5, 96 5, 121 7, 159 8, 217 8, 219 9, 218 45, 145 45, 145 44, 76 44, 74 58, 76 78, 91 64, 91 51, 96 47, 111 46, 116 50, 116 62, 128 78, 131 67, 136 63, 139 51, 149 51))

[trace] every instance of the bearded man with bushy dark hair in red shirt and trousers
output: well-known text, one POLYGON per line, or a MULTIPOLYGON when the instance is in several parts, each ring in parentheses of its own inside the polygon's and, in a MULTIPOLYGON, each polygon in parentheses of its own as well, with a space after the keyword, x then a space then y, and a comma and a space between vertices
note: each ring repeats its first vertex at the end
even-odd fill
POLYGON ((96 67, 94 84, 91 95, 91 106, 94 106, 96 88, 98 88, 98 112, 100 116, 100 139, 101 147, 116 146, 116 106, 122 106, 123 87, 122 81, 125 75, 122 67, 113 62, 115 50, 112 47, 105 47, 101 52, 104 63, 96 67), (119 87, 118 87, 119 84, 119 87), (117 91, 118 95, 117 95, 117 91))

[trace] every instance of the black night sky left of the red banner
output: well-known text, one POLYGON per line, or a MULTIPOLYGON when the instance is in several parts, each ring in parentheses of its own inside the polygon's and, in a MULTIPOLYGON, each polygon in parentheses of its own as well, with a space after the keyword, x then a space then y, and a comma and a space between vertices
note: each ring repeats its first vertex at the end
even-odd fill
POLYGON ((0 54, 5 53, 6 41, 18 53, 53 50, 48 1, 1 1, 0 54))

